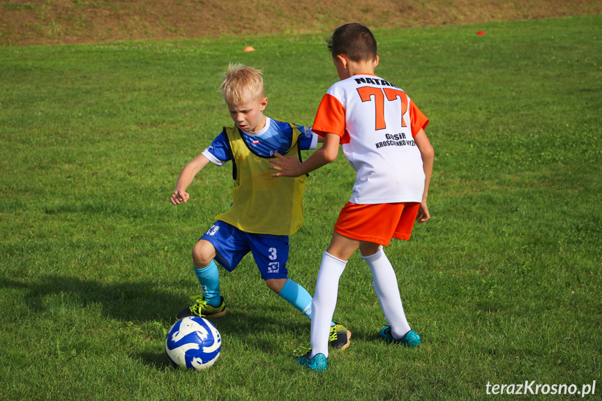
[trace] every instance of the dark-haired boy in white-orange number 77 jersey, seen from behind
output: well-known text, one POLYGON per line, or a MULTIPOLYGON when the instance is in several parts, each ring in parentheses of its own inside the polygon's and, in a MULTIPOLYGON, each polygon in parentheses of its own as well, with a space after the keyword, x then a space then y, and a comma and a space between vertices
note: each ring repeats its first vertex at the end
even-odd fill
POLYGON ((426 198, 434 159, 423 129, 426 116, 402 89, 374 74, 379 57, 370 29, 345 24, 328 43, 340 81, 322 98, 313 124, 324 145, 305 162, 276 154, 270 167, 279 171, 273 176, 301 176, 335 160, 342 144, 357 173, 353 195, 340 212, 317 275, 312 350, 296 358, 313 370, 326 370, 339 278, 358 248, 388 324, 380 337, 407 347, 420 344, 407 323, 396 274, 382 246, 392 237, 408 240, 414 220, 430 218, 426 198))

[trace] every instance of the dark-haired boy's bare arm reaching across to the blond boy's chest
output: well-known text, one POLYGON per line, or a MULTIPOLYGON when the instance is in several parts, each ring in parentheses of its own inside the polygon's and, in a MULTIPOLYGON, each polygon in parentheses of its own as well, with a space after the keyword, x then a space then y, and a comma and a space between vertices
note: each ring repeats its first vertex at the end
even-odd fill
POLYGON ((321 148, 317 149, 312 156, 308 157, 306 161, 300 162, 296 156, 282 156, 280 153, 276 153, 276 159, 271 159, 272 164, 269 168, 278 170, 278 173, 272 174, 273 177, 298 177, 308 172, 313 172, 315 169, 319 169, 329 162, 336 159, 338 155, 338 145, 340 144, 340 137, 336 134, 326 133, 324 134, 324 144, 321 148))

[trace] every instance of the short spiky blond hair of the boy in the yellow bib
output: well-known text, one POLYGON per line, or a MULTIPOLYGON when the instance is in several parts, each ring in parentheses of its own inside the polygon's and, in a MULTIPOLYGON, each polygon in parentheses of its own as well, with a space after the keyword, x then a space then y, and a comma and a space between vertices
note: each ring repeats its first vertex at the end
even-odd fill
POLYGON ((238 106, 249 100, 265 97, 262 70, 243 66, 241 63, 229 63, 223 73, 220 92, 228 105, 238 106))

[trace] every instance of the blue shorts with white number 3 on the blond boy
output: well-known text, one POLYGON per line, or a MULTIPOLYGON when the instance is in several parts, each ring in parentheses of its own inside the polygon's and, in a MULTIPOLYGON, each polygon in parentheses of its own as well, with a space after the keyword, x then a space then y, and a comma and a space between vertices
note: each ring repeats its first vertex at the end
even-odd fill
POLYGON ((216 262, 233 271, 250 251, 264 280, 287 278, 289 236, 243 232, 227 222, 216 221, 200 238, 216 248, 216 262))

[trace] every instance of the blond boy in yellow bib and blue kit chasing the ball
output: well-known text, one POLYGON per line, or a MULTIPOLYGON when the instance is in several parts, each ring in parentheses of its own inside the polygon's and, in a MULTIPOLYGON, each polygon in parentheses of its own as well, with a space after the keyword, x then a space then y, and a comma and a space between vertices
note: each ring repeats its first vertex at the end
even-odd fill
MULTIPOLYGON (((268 104, 262 72, 230 64, 220 86, 234 127, 225 127, 199 156, 182 170, 170 201, 188 202, 190 183, 206 165, 223 166, 232 161, 232 205, 193 248, 194 271, 203 290, 195 303, 176 317, 220 317, 226 307, 220 294, 216 262, 233 271, 248 252, 267 287, 311 317, 312 298, 288 278, 289 235, 303 223, 303 188, 306 176, 275 179, 269 171, 274 154, 301 159, 301 150, 315 149, 319 140, 311 128, 271 119, 263 114, 268 104)), ((329 344, 336 349, 349 345, 351 333, 331 324, 329 344)))

